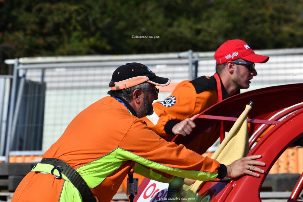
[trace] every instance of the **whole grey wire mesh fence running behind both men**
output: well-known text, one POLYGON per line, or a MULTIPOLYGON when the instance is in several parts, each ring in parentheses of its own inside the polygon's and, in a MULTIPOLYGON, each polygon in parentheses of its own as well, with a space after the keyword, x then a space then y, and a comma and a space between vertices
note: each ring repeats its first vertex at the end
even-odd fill
MULTIPOLYGON (((265 64, 256 64, 258 75, 252 80, 251 87, 242 92, 303 82, 303 49, 256 53, 269 55, 270 59, 265 64)), ((18 83, 12 90, 16 99, 11 116, 16 121, 15 124, 13 121, 7 123, 12 127, 11 133, 7 134, 12 138, 9 151, 47 150, 80 111, 107 95, 112 72, 120 65, 140 62, 156 75, 171 78, 171 85, 174 86, 180 81, 192 79, 192 71, 196 71, 197 76, 213 75, 213 54, 155 54, 149 55, 149 58, 137 55, 114 57, 112 60, 105 56, 103 59, 74 57, 68 60, 20 58, 18 65, 15 65, 18 71, 14 79, 18 79, 18 83), (191 68, 190 64, 195 64, 195 61, 198 61, 198 66, 191 68)), ((169 96, 172 89, 161 89, 158 100, 169 96)), ((84 137, 86 135, 83 134, 84 137)), ((0 141, 1 144, 5 142, 0 141)))

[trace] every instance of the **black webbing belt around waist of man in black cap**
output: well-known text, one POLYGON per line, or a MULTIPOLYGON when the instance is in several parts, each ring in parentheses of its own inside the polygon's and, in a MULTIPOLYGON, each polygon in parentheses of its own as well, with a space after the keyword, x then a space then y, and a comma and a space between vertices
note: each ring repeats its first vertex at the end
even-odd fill
POLYGON ((44 158, 40 162, 41 164, 51 164, 54 166, 51 173, 56 169, 59 171, 60 176, 55 176, 57 179, 62 178, 62 174, 64 174, 71 183, 79 190, 83 202, 95 202, 95 197, 92 194, 92 191, 82 178, 82 176, 68 163, 61 161, 56 158, 44 158))

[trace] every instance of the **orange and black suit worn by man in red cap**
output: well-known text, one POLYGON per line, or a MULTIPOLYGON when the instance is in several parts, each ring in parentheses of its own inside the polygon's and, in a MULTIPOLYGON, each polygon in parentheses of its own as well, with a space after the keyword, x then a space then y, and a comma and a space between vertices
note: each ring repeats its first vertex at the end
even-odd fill
MULTIPOLYGON (((218 81, 221 84, 222 100, 229 97, 224 85, 219 77, 218 81)), ((237 91, 235 94, 240 93, 237 91)), ((218 103, 218 87, 214 76, 201 76, 194 80, 186 80, 180 82, 172 91, 171 95, 164 101, 155 102, 153 104, 154 113, 150 116, 142 118, 148 126, 152 128, 158 135, 167 141, 171 141, 175 136, 172 133, 172 127, 179 121, 186 118, 191 118, 196 114, 200 114, 205 109, 218 103)), ((209 133, 215 133, 213 128, 209 133)), ((210 137, 210 135, 208 135, 210 137)), ((215 138, 217 140, 218 137, 215 138)), ((214 141, 215 141, 214 140, 214 141)), ((212 141, 212 143, 214 143, 212 141)), ((198 147, 200 151, 206 151, 210 145, 201 145, 198 147)), ((202 152, 202 153, 204 153, 202 152)), ((202 154, 201 153, 201 154, 202 154)))

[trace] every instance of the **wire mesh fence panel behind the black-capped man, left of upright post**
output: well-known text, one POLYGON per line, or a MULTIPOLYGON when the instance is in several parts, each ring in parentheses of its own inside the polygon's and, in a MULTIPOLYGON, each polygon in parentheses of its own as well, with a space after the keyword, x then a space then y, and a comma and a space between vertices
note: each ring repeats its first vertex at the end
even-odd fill
MULTIPOLYGON (((40 89, 40 91, 28 92, 23 90, 22 92, 18 122, 15 126, 16 131, 12 134, 12 150, 38 150, 40 148, 38 145, 41 142, 41 129, 43 131, 41 150, 47 150, 62 135, 69 122, 80 111, 107 95, 112 72, 126 62, 128 61, 117 61, 110 65, 104 62, 98 64, 91 64, 90 62, 85 64, 65 63, 60 65, 54 63, 51 65, 40 64, 41 67, 20 65, 20 69, 25 72, 26 81, 25 86, 21 88, 27 89, 28 82, 31 81, 37 84, 35 89, 40 89), (34 102, 28 101, 28 98, 37 98, 35 101, 39 105, 36 109, 37 112, 33 111, 31 106, 23 106, 24 103, 34 102), (21 113, 24 108, 29 109, 27 114, 21 113), (42 111, 43 118, 41 118, 42 111), (32 120, 40 117, 39 120, 43 120, 43 123, 37 121, 35 123, 31 121, 25 123, 23 121, 26 120, 25 117, 31 117, 32 120), (29 131, 31 136, 24 134, 24 131, 29 131), (28 138, 30 138, 30 141, 28 138), (35 143, 35 146, 32 143, 35 143)), ((170 78, 173 82, 188 79, 187 60, 177 59, 173 62, 141 61, 141 63, 148 63, 148 67, 158 76, 171 75, 170 78)), ((168 94, 169 92, 161 92, 158 97, 164 99, 168 94)), ((85 135, 83 134, 83 136, 85 135)))

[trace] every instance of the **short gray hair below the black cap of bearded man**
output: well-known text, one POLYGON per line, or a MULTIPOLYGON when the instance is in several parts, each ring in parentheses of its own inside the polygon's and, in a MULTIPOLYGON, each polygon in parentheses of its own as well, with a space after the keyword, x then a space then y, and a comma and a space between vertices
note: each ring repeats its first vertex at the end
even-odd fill
MULTIPOLYGON (((109 82, 109 87, 115 86, 115 83, 113 81, 109 82)), ((145 91, 144 89, 148 89, 151 88, 151 84, 144 82, 142 84, 138 84, 136 86, 130 87, 130 88, 126 88, 123 90, 110 90, 107 92, 107 94, 109 94, 110 96, 114 96, 114 97, 119 97, 124 99, 127 102, 132 101, 132 93, 134 92, 134 90, 136 89, 140 89, 142 91, 145 91)))

